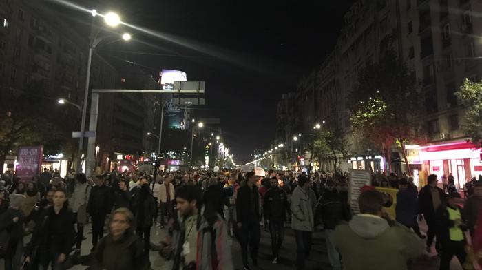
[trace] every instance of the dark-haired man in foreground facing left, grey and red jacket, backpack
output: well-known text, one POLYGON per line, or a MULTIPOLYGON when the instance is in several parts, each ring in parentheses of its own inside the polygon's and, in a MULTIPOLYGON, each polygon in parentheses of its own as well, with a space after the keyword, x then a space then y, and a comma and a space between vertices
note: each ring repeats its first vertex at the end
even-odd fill
POLYGON ((202 191, 195 185, 176 189, 178 218, 171 219, 160 242, 160 255, 178 270, 233 270, 226 225, 216 211, 202 207, 202 191))

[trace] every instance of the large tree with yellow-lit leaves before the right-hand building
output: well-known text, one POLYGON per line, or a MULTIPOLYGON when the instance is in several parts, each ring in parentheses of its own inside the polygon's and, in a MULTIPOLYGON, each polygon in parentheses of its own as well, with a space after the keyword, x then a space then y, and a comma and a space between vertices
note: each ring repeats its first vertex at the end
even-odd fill
POLYGON ((420 101, 417 79, 389 50, 379 63, 366 65, 359 74, 357 87, 350 93, 348 107, 353 132, 360 132, 382 148, 399 141, 410 172, 405 145, 416 138, 420 101))

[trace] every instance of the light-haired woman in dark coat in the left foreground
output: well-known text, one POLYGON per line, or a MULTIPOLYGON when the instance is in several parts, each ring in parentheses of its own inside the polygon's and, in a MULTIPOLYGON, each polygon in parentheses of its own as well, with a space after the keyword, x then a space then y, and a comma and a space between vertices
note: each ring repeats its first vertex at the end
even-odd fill
POLYGON ((91 254, 92 270, 148 270, 149 260, 136 231, 135 218, 127 208, 119 208, 109 220, 109 233, 91 254))

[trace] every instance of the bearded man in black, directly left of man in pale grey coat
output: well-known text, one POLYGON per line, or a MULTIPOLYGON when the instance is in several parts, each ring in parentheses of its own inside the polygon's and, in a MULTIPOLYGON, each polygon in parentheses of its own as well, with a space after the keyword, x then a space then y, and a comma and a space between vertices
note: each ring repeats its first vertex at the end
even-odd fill
POLYGON ((273 264, 277 264, 280 249, 283 244, 283 227, 288 209, 288 198, 283 189, 278 186, 277 178, 270 179, 270 189, 264 194, 264 218, 269 223, 271 234, 271 250, 273 251, 273 264))

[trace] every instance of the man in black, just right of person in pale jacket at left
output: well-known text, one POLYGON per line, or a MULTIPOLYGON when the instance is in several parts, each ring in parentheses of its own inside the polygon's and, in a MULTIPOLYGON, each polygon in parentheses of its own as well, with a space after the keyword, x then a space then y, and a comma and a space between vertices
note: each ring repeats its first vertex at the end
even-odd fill
POLYGON ((96 247, 98 240, 104 236, 105 216, 112 209, 112 193, 109 187, 104 185, 103 176, 95 176, 94 183, 87 204, 87 212, 92 218, 92 250, 96 247))

